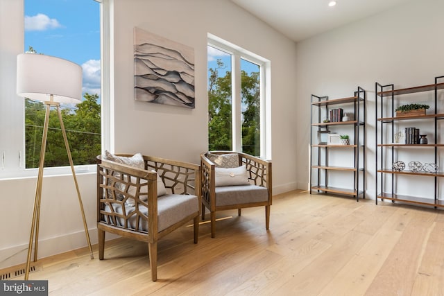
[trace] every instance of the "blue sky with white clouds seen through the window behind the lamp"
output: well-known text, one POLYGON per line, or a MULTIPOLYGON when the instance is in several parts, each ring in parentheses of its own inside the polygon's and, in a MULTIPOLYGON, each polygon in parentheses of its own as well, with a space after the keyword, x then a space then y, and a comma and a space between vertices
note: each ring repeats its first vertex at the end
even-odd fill
POLYGON ((83 68, 83 93, 99 94, 100 4, 93 0, 25 0, 24 51, 53 55, 83 68))

